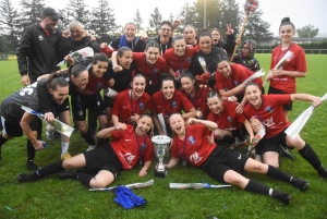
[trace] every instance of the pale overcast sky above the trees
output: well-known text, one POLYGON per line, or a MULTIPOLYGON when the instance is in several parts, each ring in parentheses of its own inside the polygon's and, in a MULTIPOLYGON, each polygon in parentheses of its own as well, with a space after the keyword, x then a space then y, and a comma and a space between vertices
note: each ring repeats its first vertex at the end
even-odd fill
MULTIPOLYGON (((306 24, 313 24, 319 28, 327 37, 327 0, 258 0, 259 9, 264 12, 263 20, 268 22, 270 32, 278 35, 279 24, 282 17, 289 16, 295 28, 303 27, 306 24)), ((12 0, 15 8, 20 0, 12 0)), ((48 7, 61 9, 68 0, 46 0, 48 7)), ((85 0, 88 8, 92 8, 96 0, 85 0)), ((185 2, 192 3, 193 0, 109 0, 109 7, 114 9, 117 24, 124 25, 133 21, 136 9, 140 10, 143 19, 143 27, 147 27, 150 13, 155 7, 159 8, 164 20, 168 20, 169 14, 177 16, 185 2)), ((245 0, 237 0, 240 5, 245 0)), ((96 5, 95 5, 96 7, 96 5)), ((209 5, 207 5, 209 7, 209 5)), ((243 10, 243 9, 242 9, 243 10)), ((240 21, 242 23, 242 21, 240 21)), ((184 24, 182 24, 184 25, 184 24)))

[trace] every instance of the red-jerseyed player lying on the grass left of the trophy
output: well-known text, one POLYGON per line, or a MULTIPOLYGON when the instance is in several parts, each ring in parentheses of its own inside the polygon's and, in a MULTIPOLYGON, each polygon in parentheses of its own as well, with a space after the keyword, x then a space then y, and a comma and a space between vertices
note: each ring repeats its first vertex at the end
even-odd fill
POLYGON ((111 137, 110 145, 104 145, 64 161, 48 165, 36 172, 21 173, 17 180, 20 182, 35 181, 63 170, 86 167, 88 173, 62 172, 59 174, 59 179, 78 180, 87 187, 105 187, 112 183, 122 170, 133 168, 138 161, 141 165, 144 162, 138 175, 146 177, 153 159, 153 143, 146 133, 152 126, 150 115, 141 114, 136 129, 124 123, 104 129, 97 133, 97 137, 111 137), (93 174, 95 172, 96 175, 93 174))

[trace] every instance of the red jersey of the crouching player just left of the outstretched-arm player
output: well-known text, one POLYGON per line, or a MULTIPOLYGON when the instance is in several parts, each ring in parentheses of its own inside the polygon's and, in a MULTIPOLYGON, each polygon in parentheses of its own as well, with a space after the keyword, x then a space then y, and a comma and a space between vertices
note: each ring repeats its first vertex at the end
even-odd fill
POLYGON ((208 114, 208 120, 216 122, 218 129, 227 131, 240 130, 246 120, 243 113, 237 113, 237 102, 222 101, 223 111, 221 114, 215 114, 213 111, 208 114))

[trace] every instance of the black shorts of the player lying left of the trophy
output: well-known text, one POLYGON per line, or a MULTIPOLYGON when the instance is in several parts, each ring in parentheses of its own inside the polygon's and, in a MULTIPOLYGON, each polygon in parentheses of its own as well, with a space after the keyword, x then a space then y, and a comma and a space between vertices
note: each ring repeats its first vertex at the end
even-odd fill
POLYGON ((83 153, 83 155, 88 172, 94 173, 107 170, 113 174, 114 179, 117 179, 122 171, 122 163, 110 145, 97 147, 93 150, 83 153))

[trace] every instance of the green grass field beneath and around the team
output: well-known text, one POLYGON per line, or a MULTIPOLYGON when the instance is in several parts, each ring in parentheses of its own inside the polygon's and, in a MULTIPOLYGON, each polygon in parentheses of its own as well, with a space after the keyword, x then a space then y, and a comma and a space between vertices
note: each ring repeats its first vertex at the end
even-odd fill
MULTIPOLYGON (((270 54, 256 54, 262 68, 267 72, 270 54)), ((327 92, 326 60, 327 56, 308 54, 308 73, 298 80, 298 93, 323 96, 327 92)), ((0 62, 0 100, 21 87, 16 61, 0 62)), ((290 114, 293 121, 310 102, 295 102, 290 114)), ((301 132, 320 160, 327 167, 327 107, 324 104, 316 109, 301 132)), ((46 138, 44 134, 44 138, 46 138)), ((88 192, 77 181, 60 181, 57 175, 33 183, 19 183, 16 177, 26 172, 25 137, 14 138, 2 146, 0 161, 0 218, 327 218, 327 180, 298 154, 295 159, 282 159, 280 169, 295 177, 307 180, 310 188, 303 193, 290 184, 271 180, 266 175, 249 174, 271 186, 292 195, 291 204, 283 206, 280 202, 264 195, 244 192, 239 187, 219 190, 170 190, 170 182, 202 182, 220 184, 206 175, 202 170, 182 165, 171 169, 166 179, 155 179, 152 187, 134 191, 147 199, 143 207, 125 210, 113 202, 114 193, 88 192)), ((73 134, 70 153, 84 151, 87 144, 80 134, 73 134)), ((36 154, 35 162, 40 167, 60 158, 60 142, 48 142, 48 148, 36 154)), ((168 161, 168 158, 166 158, 168 161)), ((157 159, 154 160, 157 163, 157 159)), ((154 178, 154 168, 148 177, 138 178, 141 167, 122 172, 112 184, 143 182, 154 178)))

